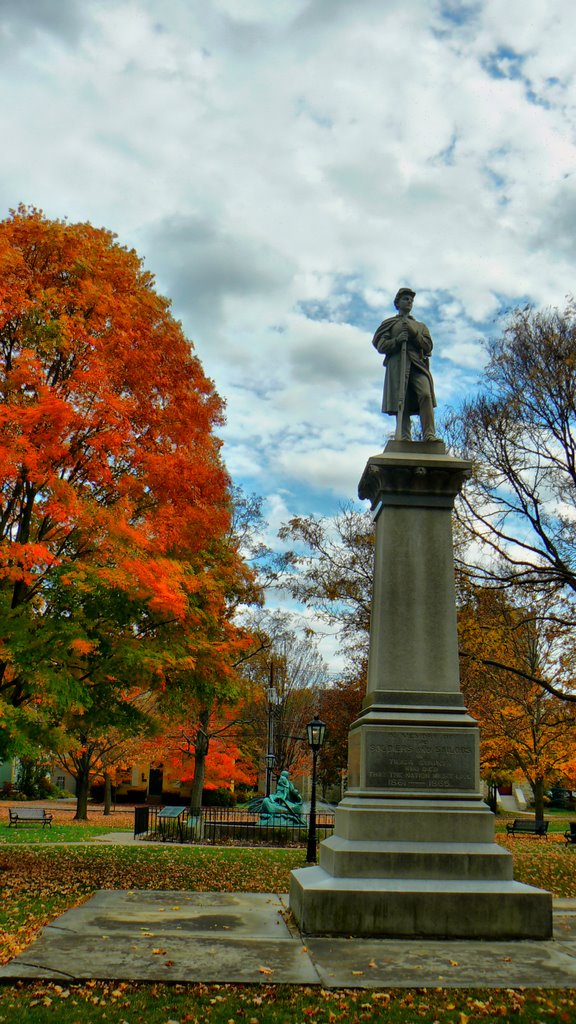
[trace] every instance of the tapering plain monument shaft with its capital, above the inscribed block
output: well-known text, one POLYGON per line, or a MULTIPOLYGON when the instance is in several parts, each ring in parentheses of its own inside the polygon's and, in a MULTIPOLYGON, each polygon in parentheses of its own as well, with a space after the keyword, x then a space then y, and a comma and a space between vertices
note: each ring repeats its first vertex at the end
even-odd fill
POLYGON ((469 465, 437 449, 444 444, 390 441, 360 481, 376 518, 371 703, 384 693, 461 702, 451 513, 469 465))

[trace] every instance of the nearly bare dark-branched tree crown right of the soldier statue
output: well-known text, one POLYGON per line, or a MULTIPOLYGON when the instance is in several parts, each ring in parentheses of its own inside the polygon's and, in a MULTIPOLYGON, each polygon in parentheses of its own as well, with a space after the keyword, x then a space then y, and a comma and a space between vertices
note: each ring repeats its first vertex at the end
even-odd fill
MULTIPOLYGON (((549 692, 575 699, 576 309, 518 309, 488 344, 479 393, 448 420, 471 460, 457 502, 458 568, 554 626, 549 692)), ((544 627, 543 627, 544 628, 544 627)))

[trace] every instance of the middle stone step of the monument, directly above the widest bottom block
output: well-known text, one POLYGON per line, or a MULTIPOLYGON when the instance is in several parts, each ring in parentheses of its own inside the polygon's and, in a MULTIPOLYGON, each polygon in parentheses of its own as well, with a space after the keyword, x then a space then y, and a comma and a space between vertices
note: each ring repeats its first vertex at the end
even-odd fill
POLYGON ((334 878, 509 881, 512 858, 497 843, 367 842, 331 836, 320 863, 334 878))

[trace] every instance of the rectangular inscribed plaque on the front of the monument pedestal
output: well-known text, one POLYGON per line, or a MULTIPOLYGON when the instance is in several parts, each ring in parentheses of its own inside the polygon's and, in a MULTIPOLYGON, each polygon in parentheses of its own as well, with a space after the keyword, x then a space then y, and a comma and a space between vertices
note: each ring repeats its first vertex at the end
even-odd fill
POLYGON ((366 785, 383 790, 476 790, 475 732, 369 732, 366 785))

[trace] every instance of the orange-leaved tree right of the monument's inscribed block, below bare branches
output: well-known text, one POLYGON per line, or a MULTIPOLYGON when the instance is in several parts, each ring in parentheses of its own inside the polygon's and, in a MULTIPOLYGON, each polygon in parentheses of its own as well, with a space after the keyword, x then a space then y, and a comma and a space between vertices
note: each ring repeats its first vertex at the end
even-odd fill
POLYGON ((465 585, 458 617, 462 691, 481 729, 485 777, 521 773, 534 793, 535 817, 544 794, 573 776, 576 708, 543 688, 567 686, 574 655, 564 651, 565 631, 548 609, 516 607, 501 592, 465 585))

